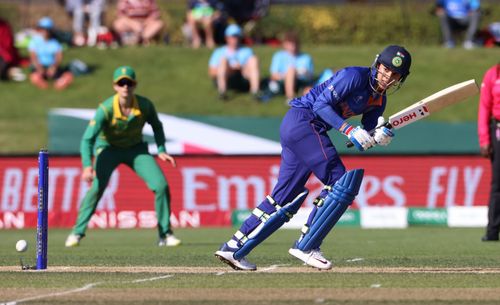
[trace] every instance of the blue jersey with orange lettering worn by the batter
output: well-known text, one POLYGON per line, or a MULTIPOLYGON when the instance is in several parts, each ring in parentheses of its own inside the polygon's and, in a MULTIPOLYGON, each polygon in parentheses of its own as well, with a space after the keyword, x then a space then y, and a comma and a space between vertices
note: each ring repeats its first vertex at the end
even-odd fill
POLYGON ((384 113, 387 99, 385 95, 374 93, 370 78, 375 77, 376 71, 370 73, 369 67, 339 70, 309 93, 293 99, 290 106, 310 109, 329 129, 337 130, 346 119, 362 114, 363 128, 372 130, 377 126, 378 117, 384 113))

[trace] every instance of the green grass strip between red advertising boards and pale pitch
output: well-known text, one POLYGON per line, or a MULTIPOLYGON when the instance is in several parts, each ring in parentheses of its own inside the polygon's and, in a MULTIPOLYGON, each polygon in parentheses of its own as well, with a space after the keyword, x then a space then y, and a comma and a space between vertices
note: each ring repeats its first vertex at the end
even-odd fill
MULTIPOLYGON (((381 267, 497 267, 499 244, 482 243, 482 229, 410 228, 408 230, 360 230, 337 228, 323 250, 336 266, 362 257, 355 266, 381 267)), ((82 246, 63 246, 68 231, 49 234, 49 264, 75 266, 220 266, 212 254, 233 229, 181 229, 183 247, 159 248, 152 230, 89 230, 82 246), (124 242, 126 240, 126 242, 124 242)), ((250 259, 261 266, 297 265, 287 253, 297 237, 295 230, 281 230, 252 252, 250 259)), ((4 231, 0 240, 0 265, 15 265, 17 240, 30 244, 26 258, 34 257, 33 230, 4 231), (30 254, 31 253, 31 254, 30 254), (29 256, 28 256, 29 254, 29 256)))

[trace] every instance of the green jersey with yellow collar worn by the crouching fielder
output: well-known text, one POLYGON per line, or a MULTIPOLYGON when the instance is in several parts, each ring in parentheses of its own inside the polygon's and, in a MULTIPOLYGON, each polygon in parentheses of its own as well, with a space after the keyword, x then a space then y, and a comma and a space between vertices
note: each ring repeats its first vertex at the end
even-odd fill
POLYGON ((143 142, 142 129, 146 123, 153 128, 158 152, 166 152, 163 126, 149 99, 134 95, 132 111, 128 117, 120 111, 117 94, 106 99, 97 108, 83 134, 80 144, 83 167, 92 165, 94 149, 98 154, 106 146, 129 148, 143 142))

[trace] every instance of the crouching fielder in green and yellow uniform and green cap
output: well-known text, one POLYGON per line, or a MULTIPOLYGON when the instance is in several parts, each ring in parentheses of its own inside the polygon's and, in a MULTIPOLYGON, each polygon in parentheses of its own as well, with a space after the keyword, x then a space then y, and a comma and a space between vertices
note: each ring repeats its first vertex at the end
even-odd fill
POLYGON ((136 172, 155 194, 158 246, 177 246, 181 243, 172 234, 170 226, 169 186, 155 159, 148 153, 147 143, 142 140, 144 124, 148 123, 153 128, 158 158, 174 167, 176 163, 166 153, 163 126, 153 103, 134 94, 136 86, 135 71, 131 67, 117 68, 113 74, 116 94, 99 105, 85 130, 80 146, 82 179, 92 182, 92 186, 83 198, 76 224, 66 239, 66 247, 80 244, 111 174, 122 163, 136 172), (92 166, 93 152, 95 160, 92 166))

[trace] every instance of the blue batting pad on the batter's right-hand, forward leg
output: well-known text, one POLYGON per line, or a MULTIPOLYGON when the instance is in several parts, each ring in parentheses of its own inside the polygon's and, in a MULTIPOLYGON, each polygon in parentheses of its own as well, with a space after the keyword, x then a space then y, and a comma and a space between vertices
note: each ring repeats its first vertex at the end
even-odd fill
POLYGON ((316 215, 314 215, 309 230, 297 243, 297 248, 302 251, 319 248, 323 239, 325 239, 326 235, 332 230, 349 205, 352 204, 356 195, 358 195, 363 174, 363 169, 355 169, 345 173, 335 182, 325 202, 318 208, 316 215))

